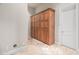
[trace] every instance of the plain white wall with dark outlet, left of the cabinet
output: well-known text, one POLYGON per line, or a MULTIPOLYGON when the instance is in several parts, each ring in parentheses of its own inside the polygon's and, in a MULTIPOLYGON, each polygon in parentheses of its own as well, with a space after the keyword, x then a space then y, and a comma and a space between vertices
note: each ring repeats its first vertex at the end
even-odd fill
POLYGON ((26 44, 28 22, 27 4, 0 4, 0 54, 26 44))

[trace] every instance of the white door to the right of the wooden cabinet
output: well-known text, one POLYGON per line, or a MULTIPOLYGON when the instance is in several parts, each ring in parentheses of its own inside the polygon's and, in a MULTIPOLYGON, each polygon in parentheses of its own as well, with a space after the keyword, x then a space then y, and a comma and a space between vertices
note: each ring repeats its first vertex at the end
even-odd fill
POLYGON ((60 12, 60 37, 61 43, 70 48, 76 48, 76 7, 75 5, 64 7, 60 12))

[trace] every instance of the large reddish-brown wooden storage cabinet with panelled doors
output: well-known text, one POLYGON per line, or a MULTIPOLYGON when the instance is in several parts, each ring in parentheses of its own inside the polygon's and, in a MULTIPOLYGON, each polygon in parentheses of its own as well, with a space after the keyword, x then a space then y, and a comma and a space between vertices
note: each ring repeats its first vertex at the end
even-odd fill
POLYGON ((48 45, 55 42, 55 10, 48 8, 31 16, 31 37, 48 45))

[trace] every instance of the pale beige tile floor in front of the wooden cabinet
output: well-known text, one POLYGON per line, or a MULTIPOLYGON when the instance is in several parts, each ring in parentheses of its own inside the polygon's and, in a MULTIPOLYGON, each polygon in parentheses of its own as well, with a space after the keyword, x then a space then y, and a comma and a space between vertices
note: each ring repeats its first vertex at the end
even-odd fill
POLYGON ((62 45, 53 44, 46 45, 36 39, 28 41, 27 47, 16 53, 16 55, 71 55, 75 50, 64 47, 62 45))

